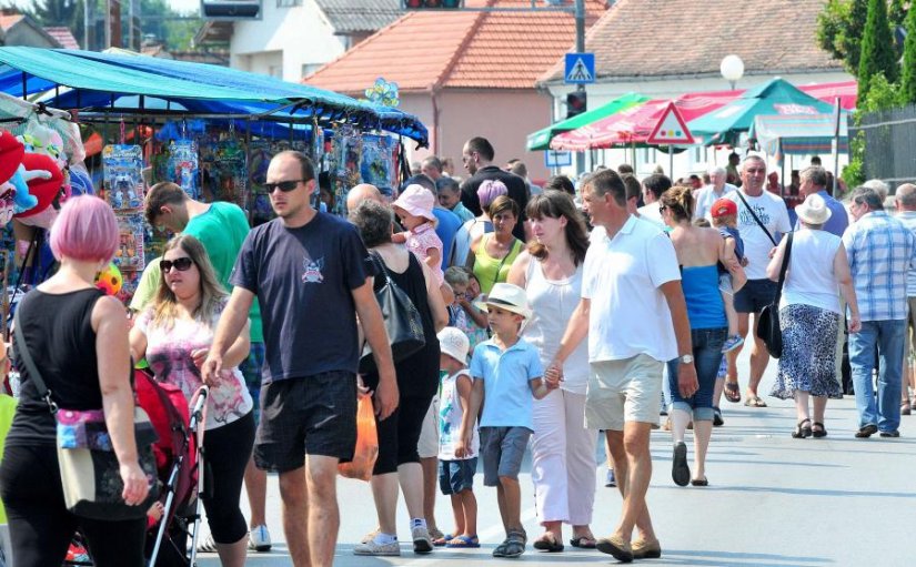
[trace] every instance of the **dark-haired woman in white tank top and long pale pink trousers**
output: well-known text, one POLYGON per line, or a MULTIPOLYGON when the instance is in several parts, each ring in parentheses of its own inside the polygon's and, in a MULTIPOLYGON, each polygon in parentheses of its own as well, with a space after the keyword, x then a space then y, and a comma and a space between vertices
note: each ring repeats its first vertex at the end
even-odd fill
MULTIPOLYGON (((582 292, 582 264, 588 235, 572 198, 544 191, 525 209, 534 241, 519 255, 509 283, 523 287, 533 315, 522 337, 537 347, 541 363, 553 361, 582 292)), ((563 550, 563 523, 573 526, 570 544, 595 547, 588 525, 595 500, 595 441, 586 429, 588 350, 583 341, 564 365, 561 387, 534 402, 532 480, 544 534, 534 548, 563 550)))

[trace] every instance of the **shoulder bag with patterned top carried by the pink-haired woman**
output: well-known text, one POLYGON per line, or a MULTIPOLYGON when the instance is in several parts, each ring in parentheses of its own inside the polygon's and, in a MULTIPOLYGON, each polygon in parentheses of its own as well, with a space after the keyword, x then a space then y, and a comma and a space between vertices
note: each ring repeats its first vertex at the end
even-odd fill
POLYGON ((16 352, 28 368, 29 379, 36 385, 38 395, 48 404, 48 411, 57 422, 58 466, 67 508, 77 516, 90 519, 123 520, 147 517, 147 510, 159 494, 155 456, 152 452, 152 444, 158 436, 147 412, 134 405, 133 427, 140 467, 151 480, 151 487, 145 502, 129 506, 121 497, 124 483, 121 480, 120 464, 105 425, 104 411, 58 407, 26 345, 19 310, 16 312, 13 324, 16 352))

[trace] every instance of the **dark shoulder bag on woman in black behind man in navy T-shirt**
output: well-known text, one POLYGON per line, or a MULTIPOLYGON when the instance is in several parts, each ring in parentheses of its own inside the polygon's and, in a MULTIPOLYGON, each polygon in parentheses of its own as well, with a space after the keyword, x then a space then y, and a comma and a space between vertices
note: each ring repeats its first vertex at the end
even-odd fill
MULTIPOLYGON (((409 261, 413 262, 413 254, 409 253, 409 255, 411 256, 409 261)), ((410 296, 387 275, 387 266, 385 266, 379 253, 371 252, 370 256, 376 272, 373 287, 375 300, 379 301, 379 306, 382 308, 385 331, 391 343, 391 356, 395 363, 399 363, 426 346, 426 337, 423 334, 423 320, 420 317, 420 311, 417 311, 410 296), (381 286, 379 285, 380 280, 382 282, 381 286)), ((407 270, 410 270, 410 263, 407 270)), ((375 369, 375 357, 372 356, 372 348, 366 342, 360 357, 360 374, 366 374, 375 369)))

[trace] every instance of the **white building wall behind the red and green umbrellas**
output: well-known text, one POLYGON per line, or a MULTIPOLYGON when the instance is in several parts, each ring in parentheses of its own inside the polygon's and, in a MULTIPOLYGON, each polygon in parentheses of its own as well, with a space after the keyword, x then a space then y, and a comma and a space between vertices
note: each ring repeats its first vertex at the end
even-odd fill
MULTIPOLYGON (((751 75, 744 77, 735 85, 736 89, 753 89, 763 84, 776 75, 751 75)), ((824 72, 824 73, 805 73, 805 74, 782 74, 779 75, 786 81, 796 87, 804 87, 806 84, 819 84, 832 82, 852 81, 854 78, 845 72, 824 72)), ((706 92, 706 91, 723 91, 729 88, 728 81, 722 77, 708 77, 701 79, 670 79, 661 81, 622 81, 622 82, 606 82, 586 85, 588 93, 588 108, 596 109, 602 104, 606 104, 612 100, 620 98, 628 92, 636 92, 648 97, 650 99, 665 99, 675 98, 681 94, 691 92, 706 92)), ((554 98, 554 121, 563 120, 566 115, 566 93, 575 90, 575 85, 570 84, 552 84, 548 87, 551 95, 554 98)), ((640 178, 648 175, 655 165, 661 165, 666 175, 677 179, 691 173, 702 173, 712 165, 725 165, 727 163, 728 153, 732 150, 714 148, 692 148, 685 152, 674 155, 674 175, 671 175, 671 158, 664 152, 658 152, 654 149, 614 149, 614 150, 597 150, 594 152, 586 152, 586 171, 592 166, 604 164, 608 168, 616 168, 622 163, 630 163, 636 169, 640 178), (635 159, 634 159, 635 158, 635 159)), ((788 170, 799 169, 801 165, 807 163, 807 158, 802 156, 786 156, 786 176, 788 170)), ((840 159, 840 171, 845 165, 847 159, 845 155, 840 159)), ((833 159, 824 156, 824 164, 827 169, 833 170, 833 159)), ((771 169, 778 171, 775 161, 771 160, 771 169)), ((574 173, 572 168, 563 170, 564 173, 574 173)))

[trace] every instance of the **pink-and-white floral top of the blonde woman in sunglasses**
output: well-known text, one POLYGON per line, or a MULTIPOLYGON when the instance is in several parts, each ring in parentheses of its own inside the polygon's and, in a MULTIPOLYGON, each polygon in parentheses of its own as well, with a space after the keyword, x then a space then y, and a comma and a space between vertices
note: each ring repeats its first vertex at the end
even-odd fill
MULTIPOLYGON (((155 379, 179 386, 189 403, 203 384, 200 368, 194 365, 191 353, 198 348, 209 348, 213 343, 213 330, 227 301, 223 301, 219 312, 208 323, 177 320, 167 330, 162 325, 152 324, 153 312, 148 308, 134 324, 134 328, 147 335, 147 361, 155 379)), ((248 415, 253 407, 239 367, 223 368, 219 383, 210 388, 205 428, 215 429, 229 425, 248 415)))

